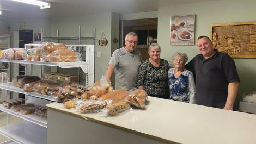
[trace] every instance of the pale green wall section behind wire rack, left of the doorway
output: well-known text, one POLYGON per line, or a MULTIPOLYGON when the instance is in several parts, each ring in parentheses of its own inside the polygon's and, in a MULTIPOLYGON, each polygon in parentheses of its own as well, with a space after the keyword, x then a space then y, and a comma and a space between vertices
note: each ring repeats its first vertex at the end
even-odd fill
MULTIPOLYGON (((95 54, 101 52, 101 57, 95 57, 95 80, 100 80, 105 74, 107 64, 111 55, 111 12, 101 14, 76 15, 71 17, 58 17, 51 20, 51 35, 56 36, 59 29, 59 36, 78 36, 78 26, 81 26, 81 35, 93 37, 93 28, 96 28, 95 54), (108 44, 100 46, 98 41, 102 33, 105 33, 108 44)), ((59 41, 62 42, 62 41, 59 41)), ((65 43, 76 43, 69 40, 65 43)), ((93 40, 83 40, 81 44, 93 44, 93 40)))

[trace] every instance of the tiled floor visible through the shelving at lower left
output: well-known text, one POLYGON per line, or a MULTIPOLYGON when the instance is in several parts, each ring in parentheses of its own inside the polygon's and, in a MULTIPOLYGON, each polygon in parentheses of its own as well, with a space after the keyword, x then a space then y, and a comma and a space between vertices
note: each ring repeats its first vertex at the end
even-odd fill
MULTIPOLYGON (((22 121, 21 118, 10 115, 10 124, 22 121)), ((0 111, 0 127, 7 125, 6 114, 0 111)), ((0 134, 0 143, 7 141, 7 137, 0 134)))

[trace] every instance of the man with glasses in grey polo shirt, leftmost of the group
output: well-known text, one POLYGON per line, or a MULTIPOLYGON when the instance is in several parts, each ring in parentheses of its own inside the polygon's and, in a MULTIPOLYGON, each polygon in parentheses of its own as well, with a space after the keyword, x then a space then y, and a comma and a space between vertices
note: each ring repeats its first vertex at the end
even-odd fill
POLYGON ((138 35, 130 32, 125 36, 125 47, 113 52, 108 63, 105 77, 110 79, 115 71, 115 90, 130 90, 136 87, 139 65, 141 65, 141 53, 136 49, 138 35))

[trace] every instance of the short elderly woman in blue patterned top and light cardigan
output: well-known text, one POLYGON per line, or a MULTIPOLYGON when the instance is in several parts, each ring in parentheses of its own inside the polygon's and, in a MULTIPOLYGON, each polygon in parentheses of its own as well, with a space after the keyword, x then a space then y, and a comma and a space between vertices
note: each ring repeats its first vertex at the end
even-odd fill
POLYGON ((173 55, 174 68, 168 71, 170 99, 195 103, 196 90, 193 73, 185 69, 187 54, 177 52, 173 55))

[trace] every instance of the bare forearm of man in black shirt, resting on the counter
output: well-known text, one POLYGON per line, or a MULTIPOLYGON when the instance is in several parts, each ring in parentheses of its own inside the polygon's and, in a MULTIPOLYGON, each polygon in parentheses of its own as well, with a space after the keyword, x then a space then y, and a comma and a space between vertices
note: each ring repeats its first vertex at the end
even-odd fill
POLYGON ((223 109, 225 110, 233 110, 233 105, 235 102, 235 98, 237 95, 239 82, 231 82, 228 84, 228 98, 225 104, 225 107, 223 109))

